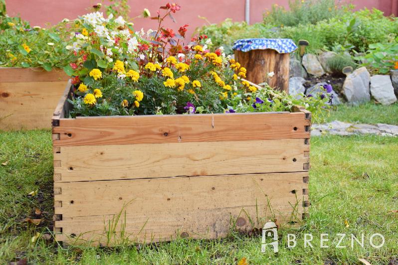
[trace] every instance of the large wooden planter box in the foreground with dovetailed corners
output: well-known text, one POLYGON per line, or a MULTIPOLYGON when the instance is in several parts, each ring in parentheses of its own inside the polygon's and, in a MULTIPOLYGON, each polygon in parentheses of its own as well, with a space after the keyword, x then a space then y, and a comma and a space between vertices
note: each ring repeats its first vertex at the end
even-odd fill
POLYGON ((214 239, 306 216, 308 111, 65 119, 69 93, 52 120, 57 241, 214 239))

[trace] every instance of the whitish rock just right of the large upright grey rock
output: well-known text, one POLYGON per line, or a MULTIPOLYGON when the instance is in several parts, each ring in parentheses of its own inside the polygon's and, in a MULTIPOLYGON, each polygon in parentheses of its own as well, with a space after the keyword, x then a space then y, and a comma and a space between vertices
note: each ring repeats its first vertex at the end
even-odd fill
POLYGON ((390 75, 372 76, 371 93, 383 105, 390 105, 397 101, 390 75))

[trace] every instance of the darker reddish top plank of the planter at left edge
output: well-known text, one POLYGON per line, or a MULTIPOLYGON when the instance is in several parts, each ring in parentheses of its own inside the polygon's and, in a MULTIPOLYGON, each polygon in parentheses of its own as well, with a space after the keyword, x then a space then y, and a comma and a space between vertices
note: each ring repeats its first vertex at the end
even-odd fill
POLYGON ((43 68, 0 67, 0 82, 51 82, 68 79, 69 76, 62 69, 47 72, 43 68))

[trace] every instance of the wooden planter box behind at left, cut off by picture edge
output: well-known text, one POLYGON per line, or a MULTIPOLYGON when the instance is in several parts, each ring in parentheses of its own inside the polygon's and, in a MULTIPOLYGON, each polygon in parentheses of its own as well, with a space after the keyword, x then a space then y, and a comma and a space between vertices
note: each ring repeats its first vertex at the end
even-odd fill
POLYGON ((61 69, 0 67, 0 130, 51 128, 68 79, 61 69))

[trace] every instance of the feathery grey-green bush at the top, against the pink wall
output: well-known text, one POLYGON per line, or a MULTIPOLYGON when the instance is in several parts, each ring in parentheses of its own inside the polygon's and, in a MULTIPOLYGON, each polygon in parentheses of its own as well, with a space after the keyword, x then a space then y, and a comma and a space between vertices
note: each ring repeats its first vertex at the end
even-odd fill
POLYGON ((316 24, 341 13, 335 0, 289 0, 289 10, 277 4, 272 5, 271 12, 264 14, 264 23, 276 26, 316 24))

